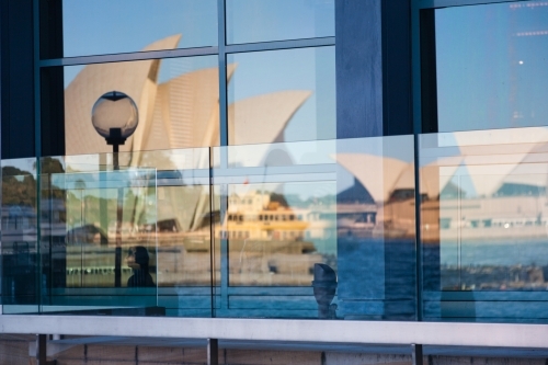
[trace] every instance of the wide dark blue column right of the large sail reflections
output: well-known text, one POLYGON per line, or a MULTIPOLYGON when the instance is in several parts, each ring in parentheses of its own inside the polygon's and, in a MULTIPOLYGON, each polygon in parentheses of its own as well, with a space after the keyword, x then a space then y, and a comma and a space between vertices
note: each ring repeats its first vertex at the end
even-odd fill
MULTIPOLYGON (((344 138, 413 133, 410 15, 409 0, 335 0, 339 153, 359 153, 358 148, 349 151, 344 138)), ((363 140, 368 142, 385 148, 379 139, 363 140)), ((339 208, 352 208, 352 202, 383 203, 373 202, 357 179, 338 195, 339 208)), ((414 319, 414 241, 339 232, 339 313, 345 319, 414 319)))

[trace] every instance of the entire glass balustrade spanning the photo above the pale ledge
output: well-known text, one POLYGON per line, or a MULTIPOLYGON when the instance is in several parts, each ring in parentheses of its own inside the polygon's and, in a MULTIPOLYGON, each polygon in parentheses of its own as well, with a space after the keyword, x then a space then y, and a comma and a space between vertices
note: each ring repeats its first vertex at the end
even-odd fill
POLYGON ((547 130, 3 160, 3 310, 544 322, 547 130))

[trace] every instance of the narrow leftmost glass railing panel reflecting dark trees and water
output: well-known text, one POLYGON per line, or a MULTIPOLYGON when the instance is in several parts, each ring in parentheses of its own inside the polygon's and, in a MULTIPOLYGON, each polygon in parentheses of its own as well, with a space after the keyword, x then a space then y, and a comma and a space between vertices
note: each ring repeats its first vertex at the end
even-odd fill
POLYGON ((36 159, 2 160, 1 297, 4 313, 37 313, 39 267, 36 159))

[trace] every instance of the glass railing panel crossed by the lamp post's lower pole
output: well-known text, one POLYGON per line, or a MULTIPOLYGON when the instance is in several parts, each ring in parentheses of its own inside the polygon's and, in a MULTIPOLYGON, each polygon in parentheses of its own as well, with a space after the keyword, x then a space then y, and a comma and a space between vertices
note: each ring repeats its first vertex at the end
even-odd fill
POLYGON ((112 153, 43 158, 42 310, 210 317, 208 152, 118 153, 119 171, 112 153))

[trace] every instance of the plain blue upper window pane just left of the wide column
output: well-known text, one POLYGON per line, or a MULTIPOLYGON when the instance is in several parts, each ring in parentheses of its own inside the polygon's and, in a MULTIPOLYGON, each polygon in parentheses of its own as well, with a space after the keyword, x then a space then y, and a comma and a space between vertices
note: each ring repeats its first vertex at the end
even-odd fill
POLYGON ((227 0, 227 43, 335 35, 333 0, 227 0))

